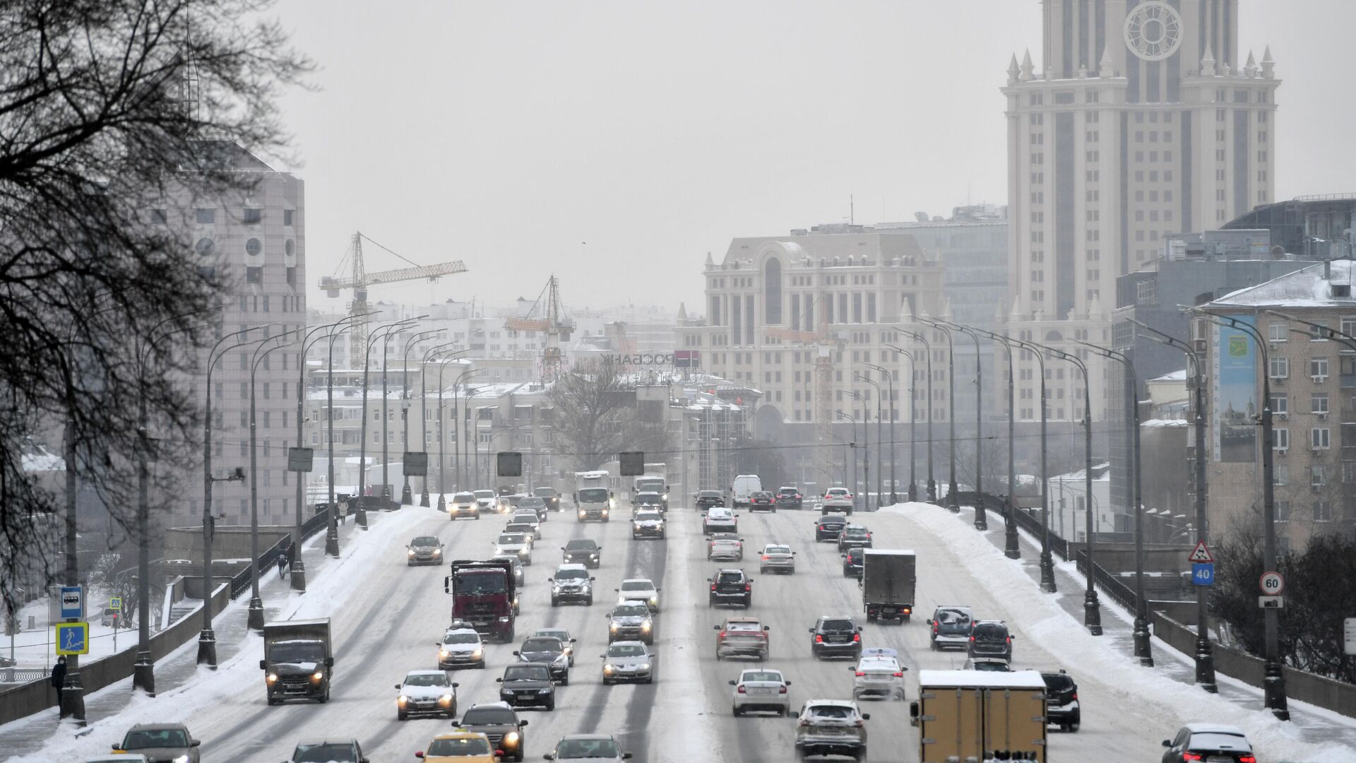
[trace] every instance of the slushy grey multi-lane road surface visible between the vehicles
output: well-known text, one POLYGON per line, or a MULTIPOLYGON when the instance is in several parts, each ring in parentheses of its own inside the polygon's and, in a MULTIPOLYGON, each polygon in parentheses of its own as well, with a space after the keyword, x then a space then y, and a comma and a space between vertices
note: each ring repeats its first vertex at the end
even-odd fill
MULTIPOLYGON (((445 557, 480 558, 492 551, 492 540, 504 520, 452 523, 433 509, 423 512, 416 534, 437 534, 447 544, 445 557)), ((570 686, 560 687, 555 711, 523 710, 527 755, 538 759, 561 734, 614 733, 636 760, 682 760, 692 751, 719 760, 777 762, 793 759, 795 722, 789 718, 731 715, 728 680, 743 667, 738 660, 715 658, 712 626, 740 610, 709 610, 705 578, 719 566, 705 561, 700 517, 690 509, 670 512, 667 540, 631 540, 622 517, 609 524, 578 524, 568 512, 552 515, 542 525, 534 563, 527 567, 522 591, 519 638, 538 627, 565 627, 579 639, 570 686), (594 538, 602 546, 602 566, 595 572, 595 603, 591 607, 549 606, 546 577, 560 559, 559 547, 571 538, 594 538), (662 587, 658 615, 656 680, 648 686, 602 686, 601 660, 606 644, 606 619, 613 589, 626 577, 650 577, 662 587)), ((810 698, 848 698, 852 692, 850 661, 820 661, 810 654, 807 629, 820 614, 856 614, 856 581, 842 576, 837 548, 812 542, 812 512, 750 515, 740 512, 746 543, 743 567, 754 577, 754 607, 749 612, 772 627, 772 658, 767 667, 782 669, 793 682, 792 705, 810 698), (755 550, 765 542, 791 543, 797 551, 795 576, 758 574, 755 550)), ((866 625, 868 646, 898 649, 909 676, 919 668, 960 667, 961 653, 937 653, 928 648, 926 612, 938 603, 970 604, 978 616, 1006 618, 1005 610, 975 585, 982 569, 970 569, 930 534, 921 532, 898 515, 865 515, 858 521, 876 531, 877 547, 910 547, 918 553, 919 616, 909 625, 866 625)), ((237 692, 205 707, 186 722, 203 740, 205 760, 283 760, 296 741, 313 737, 357 737, 373 760, 412 759, 428 739, 447 728, 445 720, 397 721, 396 683, 410 669, 434 667, 434 642, 449 622, 450 597, 443 593, 445 567, 407 567, 404 548, 392 544, 382 563, 374 565, 343 603, 331 612, 336 638, 336 679, 328 705, 289 703, 268 707, 262 676, 254 690, 237 692)), ((1060 667, 1056 656, 1040 653, 1014 629, 1017 667, 1060 667)), ((513 645, 490 645, 488 668, 454 673, 461 707, 498 699, 495 677, 514 660, 513 645)), ((751 663, 750 663, 751 664, 751 663)), ((1073 669, 1073 667, 1070 667, 1073 669)), ((1051 730, 1054 760, 1089 759, 1117 751, 1125 759, 1154 759, 1158 740, 1176 730, 1177 720, 1153 707, 1134 706, 1115 687, 1096 676, 1077 675, 1083 702, 1083 725, 1077 734, 1051 730)), ((906 679, 910 696, 917 683, 906 679)), ((917 759, 917 734, 907 724, 907 703, 864 703, 872 760, 917 759)))

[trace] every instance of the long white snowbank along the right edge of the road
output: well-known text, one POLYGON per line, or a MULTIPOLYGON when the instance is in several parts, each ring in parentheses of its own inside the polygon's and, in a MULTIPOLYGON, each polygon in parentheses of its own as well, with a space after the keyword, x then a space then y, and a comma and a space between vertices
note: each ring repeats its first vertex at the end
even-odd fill
POLYGON ((1191 684, 1142 668, 1105 641, 1090 635, 1082 623, 1043 593, 1020 559, 1009 559, 982 534, 957 521, 956 516, 932 504, 899 504, 880 509, 904 516, 921 531, 936 535, 956 558, 984 570, 975 576, 994 597, 1022 612, 1020 623, 1041 649, 1066 657, 1083 672, 1096 673, 1112 688, 1117 702, 1159 706, 1182 722, 1200 720, 1245 729, 1253 749, 1268 760, 1304 760, 1307 763, 1348 763, 1356 760, 1356 748, 1337 743, 1304 741, 1302 729, 1276 720, 1268 710, 1249 710, 1229 699, 1205 694, 1191 684))

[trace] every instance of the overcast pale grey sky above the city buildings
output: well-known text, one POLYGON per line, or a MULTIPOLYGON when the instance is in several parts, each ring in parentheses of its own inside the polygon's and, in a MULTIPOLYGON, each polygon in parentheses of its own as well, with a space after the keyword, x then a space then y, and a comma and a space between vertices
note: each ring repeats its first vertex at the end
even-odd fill
MULTIPOLYGON (((1006 202, 1008 58, 1037 0, 286 0, 311 305, 361 229, 438 284, 373 299, 702 303, 734 236, 1006 202), (584 243, 587 242, 587 243, 584 243)), ((1356 190, 1356 1, 1243 0, 1277 76, 1277 197, 1356 190)), ((397 267, 365 250, 367 269, 397 267)), ((347 299, 347 295, 346 297, 347 299)))

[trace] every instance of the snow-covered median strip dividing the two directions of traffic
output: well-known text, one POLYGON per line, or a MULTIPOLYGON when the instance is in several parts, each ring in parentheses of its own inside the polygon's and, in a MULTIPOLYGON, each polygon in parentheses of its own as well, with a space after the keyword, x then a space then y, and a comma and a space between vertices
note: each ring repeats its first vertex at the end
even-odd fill
MULTIPOLYGON (((673 516, 673 515, 670 515, 673 516)), ((690 516, 683 517, 692 521, 690 516)), ((673 520, 670 520, 673 524, 673 520)), ((679 520, 682 521, 682 520, 679 520)), ((702 714, 711 705, 706 702, 706 691, 701 682, 701 646, 706 634, 697 633, 698 608, 704 608, 704 601, 698 600, 696 592, 705 591, 705 587, 693 584, 693 573, 689 565, 696 553, 693 534, 673 532, 670 525, 669 569, 664 577, 670 581, 664 587, 664 622, 677 625, 675 633, 664 645, 663 661, 659 664, 658 679, 663 683, 664 694, 673 699, 667 702, 671 707, 671 717, 681 722, 658 724, 655 739, 651 740, 650 759, 659 762, 669 760, 720 760, 720 741, 715 737, 712 724, 702 720, 702 714)))

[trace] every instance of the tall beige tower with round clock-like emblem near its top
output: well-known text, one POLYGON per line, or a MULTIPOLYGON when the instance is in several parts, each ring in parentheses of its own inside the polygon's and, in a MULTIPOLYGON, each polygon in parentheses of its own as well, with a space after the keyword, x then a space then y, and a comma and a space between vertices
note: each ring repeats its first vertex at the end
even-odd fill
MULTIPOLYGON (((1014 337, 1115 346, 1119 276, 1159 257, 1166 235, 1275 201, 1280 80, 1269 49, 1239 64, 1238 5, 1044 0, 1040 67, 1029 50, 1013 54, 1002 88, 1014 337)), ((1096 360, 1101 420, 1108 375, 1096 360)), ((1018 415, 1039 418, 1033 364, 1018 383, 1018 415)), ((1051 418, 1082 415, 1079 384, 1051 391, 1051 418)))

